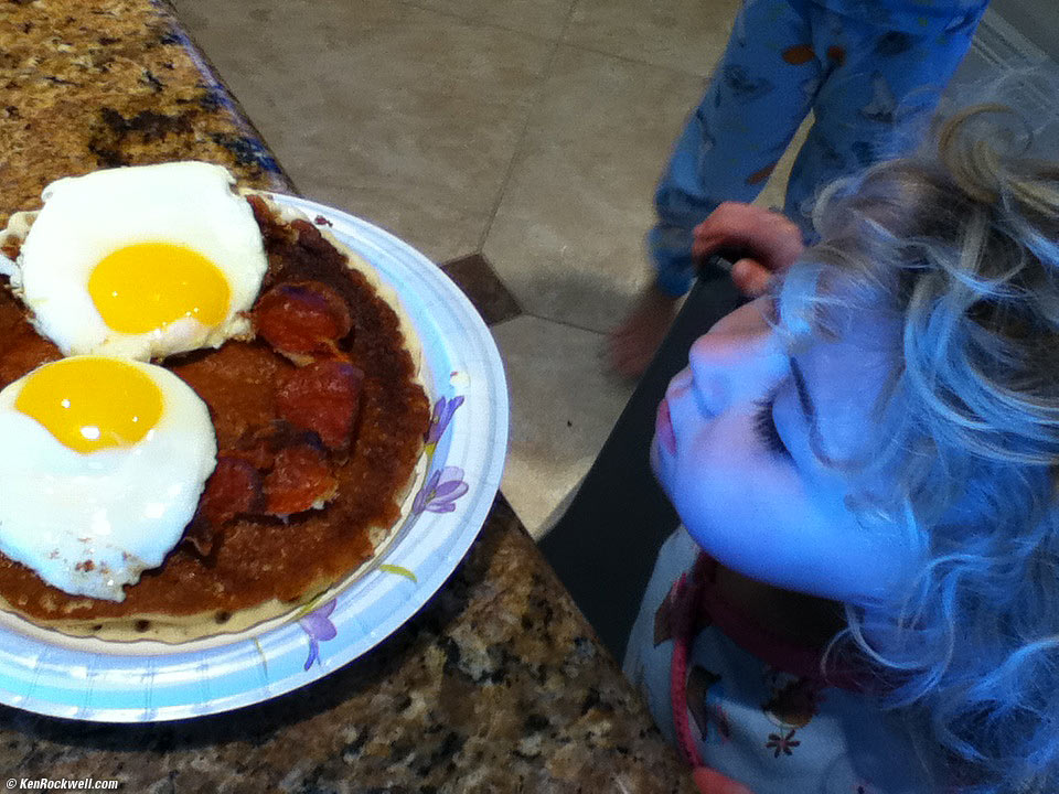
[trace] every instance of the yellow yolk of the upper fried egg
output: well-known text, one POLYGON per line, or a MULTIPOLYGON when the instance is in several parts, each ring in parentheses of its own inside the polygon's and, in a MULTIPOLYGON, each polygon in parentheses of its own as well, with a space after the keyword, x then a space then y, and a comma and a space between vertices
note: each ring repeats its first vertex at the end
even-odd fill
POLYGON ((212 326, 228 312, 227 279, 206 257, 170 243, 137 243, 96 265, 88 294, 119 333, 148 333, 190 316, 212 326))

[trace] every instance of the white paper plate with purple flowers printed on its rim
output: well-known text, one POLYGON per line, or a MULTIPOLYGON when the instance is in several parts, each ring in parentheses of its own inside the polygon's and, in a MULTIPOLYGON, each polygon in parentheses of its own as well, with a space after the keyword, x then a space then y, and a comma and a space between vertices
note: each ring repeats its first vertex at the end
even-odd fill
POLYGON ((356 658, 411 618, 481 529, 507 447, 506 383, 485 324, 436 265, 393 235, 314 202, 272 197, 330 221, 331 232, 398 293, 422 342, 435 414, 400 529, 353 581, 239 634, 182 645, 109 643, 0 613, 0 702, 72 719, 149 722, 276 697, 356 658))

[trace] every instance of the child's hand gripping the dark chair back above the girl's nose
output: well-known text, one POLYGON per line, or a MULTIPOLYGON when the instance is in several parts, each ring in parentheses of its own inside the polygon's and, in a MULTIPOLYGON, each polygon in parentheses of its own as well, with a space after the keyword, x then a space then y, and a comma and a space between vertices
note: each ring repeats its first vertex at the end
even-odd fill
POLYGON ((787 269, 805 248, 802 230, 779 213, 753 204, 724 202, 695 227, 692 255, 705 258, 721 248, 746 251, 735 261, 731 280, 746 294, 768 289, 772 273, 787 269))

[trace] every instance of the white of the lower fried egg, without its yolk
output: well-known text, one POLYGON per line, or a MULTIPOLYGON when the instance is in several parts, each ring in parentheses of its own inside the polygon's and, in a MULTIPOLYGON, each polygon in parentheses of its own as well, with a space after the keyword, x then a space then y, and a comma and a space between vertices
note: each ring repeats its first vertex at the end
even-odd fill
POLYGON ((168 369, 129 363, 163 399, 158 423, 131 447, 76 452, 14 408, 29 375, 0 391, 0 551, 75 596, 125 600, 122 586, 180 540, 216 465, 199 395, 168 369))

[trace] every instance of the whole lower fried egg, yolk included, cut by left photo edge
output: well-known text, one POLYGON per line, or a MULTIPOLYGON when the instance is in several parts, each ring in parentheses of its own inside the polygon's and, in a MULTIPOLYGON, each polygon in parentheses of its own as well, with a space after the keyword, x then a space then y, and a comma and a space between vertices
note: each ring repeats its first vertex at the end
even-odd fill
POLYGON ((125 600, 216 464, 202 399, 160 366, 44 364, 0 391, 0 551, 75 596, 125 600))

